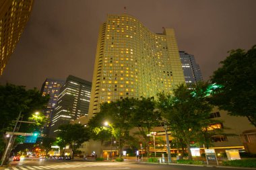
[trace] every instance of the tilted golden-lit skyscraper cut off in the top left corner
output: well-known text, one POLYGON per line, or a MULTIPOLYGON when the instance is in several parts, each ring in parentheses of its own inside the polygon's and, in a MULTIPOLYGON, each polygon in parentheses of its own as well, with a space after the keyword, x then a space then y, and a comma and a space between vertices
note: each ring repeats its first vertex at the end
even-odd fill
POLYGON ((0 1, 0 75, 20 40, 32 11, 33 0, 0 1))

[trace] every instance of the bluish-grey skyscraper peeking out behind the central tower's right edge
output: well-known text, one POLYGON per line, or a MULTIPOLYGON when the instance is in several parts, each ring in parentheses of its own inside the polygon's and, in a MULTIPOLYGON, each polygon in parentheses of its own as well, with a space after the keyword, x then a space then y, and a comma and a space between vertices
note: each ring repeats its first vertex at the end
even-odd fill
POLYGON ((179 53, 186 84, 189 85, 203 81, 199 65, 195 62, 195 57, 185 51, 180 51, 179 53))

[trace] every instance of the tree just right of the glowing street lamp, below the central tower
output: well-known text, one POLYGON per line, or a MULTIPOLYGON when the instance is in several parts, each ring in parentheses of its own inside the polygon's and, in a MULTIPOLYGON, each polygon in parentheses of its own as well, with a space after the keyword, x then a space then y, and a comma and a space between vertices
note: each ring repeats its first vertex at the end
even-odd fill
POLYGON ((130 120, 134 105, 135 99, 133 98, 125 98, 100 105, 98 114, 104 114, 106 121, 110 122, 112 134, 118 140, 120 158, 123 144, 129 138, 129 130, 133 127, 130 120))

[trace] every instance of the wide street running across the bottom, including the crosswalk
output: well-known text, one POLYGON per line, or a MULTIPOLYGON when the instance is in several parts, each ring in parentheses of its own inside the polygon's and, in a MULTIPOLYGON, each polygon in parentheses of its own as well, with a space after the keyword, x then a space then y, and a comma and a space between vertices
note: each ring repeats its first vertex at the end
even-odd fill
MULTIPOLYGON (((110 169, 133 169, 133 170, 226 170, 222 167, 201 167, 191 165, 159 165, 148 163, 137 163, 135 161, 124 162, 85 162, 85 161, 40 161, 34 160, 22 160, 17 162, 11 162, 9 167, 1 168, 5 170, 36 170, 36 169, 88 169, 88 170, 110 170, 110 169)), ((232 168, 233 169, 233 168, 232 168)), ((234 168, 235 169, 235 168, 234 168)))

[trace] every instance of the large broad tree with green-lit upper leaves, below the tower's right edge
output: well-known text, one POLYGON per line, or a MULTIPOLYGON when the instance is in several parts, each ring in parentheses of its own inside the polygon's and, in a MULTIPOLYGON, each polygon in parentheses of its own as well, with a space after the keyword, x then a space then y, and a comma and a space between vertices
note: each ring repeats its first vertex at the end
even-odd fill
POLYGON ((210 112, 212 105, 207 102, 205 91, 207 84, 199 83, 193 88, 185 84, 174 89, 173 94, 158 94, 158 108, 166 118, 175 138, 182 140, 191 155, 191 143, 199 142, 199 134, 205 127, 212 124, 210 112))

